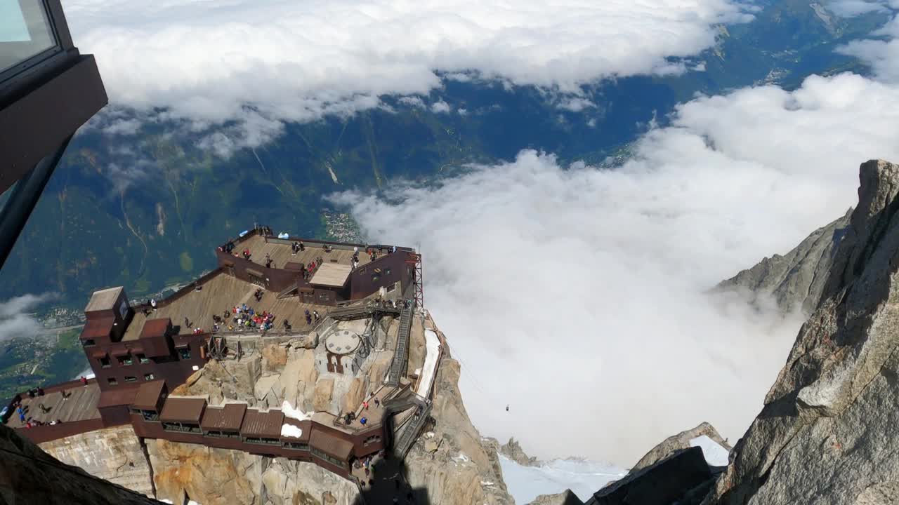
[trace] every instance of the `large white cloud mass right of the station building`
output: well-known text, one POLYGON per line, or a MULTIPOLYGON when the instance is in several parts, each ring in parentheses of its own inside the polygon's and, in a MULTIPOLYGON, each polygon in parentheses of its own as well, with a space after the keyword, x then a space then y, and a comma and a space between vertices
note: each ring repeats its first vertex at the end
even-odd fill
POLYGON ((701 293, 853 205, 859 164, 899 159, 897 102, 814 76, 681 105, 615 170, 523 151, 395 200, 335 198, 379 241, 421 244, 482 432, 628 466, 700 421, 743 434, 799 322, 701 293))

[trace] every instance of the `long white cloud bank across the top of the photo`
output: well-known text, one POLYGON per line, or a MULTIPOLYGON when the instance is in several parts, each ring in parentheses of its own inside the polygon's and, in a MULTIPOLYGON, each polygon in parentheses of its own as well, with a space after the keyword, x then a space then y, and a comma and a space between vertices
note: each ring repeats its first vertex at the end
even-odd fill
MULTIPOLYGON (((69 0, 79 49, 94 53, 114 104, 165 117, 236 120, 230 147, 283 121, 428 94, 439 73, 574 91, 614 75, 671 71, 743 22, 736 0, 69 0)), ((227 143, 210 141, 218 147, 227 143)))

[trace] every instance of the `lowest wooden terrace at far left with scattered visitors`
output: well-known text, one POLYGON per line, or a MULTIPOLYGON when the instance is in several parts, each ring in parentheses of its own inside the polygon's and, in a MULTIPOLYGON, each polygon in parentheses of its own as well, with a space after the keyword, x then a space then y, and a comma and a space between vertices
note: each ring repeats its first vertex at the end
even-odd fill
MULTIPOLYGON (((100 401, 99 385, 96 383, 77 385, 67 389, 66 392, 72 394, 67 400, 63 399, 62 392, 59 391, 34 398, 29 398, 27 394, 24 395, 22 406, 27 407, 25 419, 31 417, 36 421, 71 422, 100 418, 100 411, 97 410, 97 403, 100 401), (49 412, 44 413, 40 409, 40 403, 48 407, 49 412)), ((19 421, 19 414, 15 411, 6 422, 6 426, 10 428, 22 428, 24 425, 19 421)))

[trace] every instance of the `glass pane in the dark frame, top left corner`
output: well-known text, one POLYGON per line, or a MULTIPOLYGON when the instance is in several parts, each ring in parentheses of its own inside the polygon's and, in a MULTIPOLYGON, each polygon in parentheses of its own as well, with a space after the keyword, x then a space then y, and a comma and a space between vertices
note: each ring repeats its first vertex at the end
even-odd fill
POLYGON ((43 2, 0 0, 0 72, 56 45, 43 2))

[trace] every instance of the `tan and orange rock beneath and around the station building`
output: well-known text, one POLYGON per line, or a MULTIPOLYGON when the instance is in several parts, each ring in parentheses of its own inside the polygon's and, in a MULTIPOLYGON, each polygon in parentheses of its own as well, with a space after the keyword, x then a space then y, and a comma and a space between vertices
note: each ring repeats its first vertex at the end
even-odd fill
MULTIPOLYGON (((424 359, 423 324, 414 323, 409 369, 424 359)), ((396 323, 395 323, 396 325, 396 323)), ((319 377, 313 350, 271 345, 240 362, 210 361, 174 392, 209 394, 211 403, 237 399, 280 406, 284 400, 304 411, 336 413, 358 405, 380 384, 390 353, 371 359, 359 377, 319 377)), ((406 456, 405 470, 415 490, 425 490, 432 505, 511 504, 495 451, 481 445, 458 391, 458 362, 446 350, 435 379, 432 427, 406 456)), ((147 440, 147 452, 159 498, 182 503, 185 497, 203 505, 350 505, 358 490, 349 481, 317 465, 284 458, 253 456, 240 451, 147 440)))

